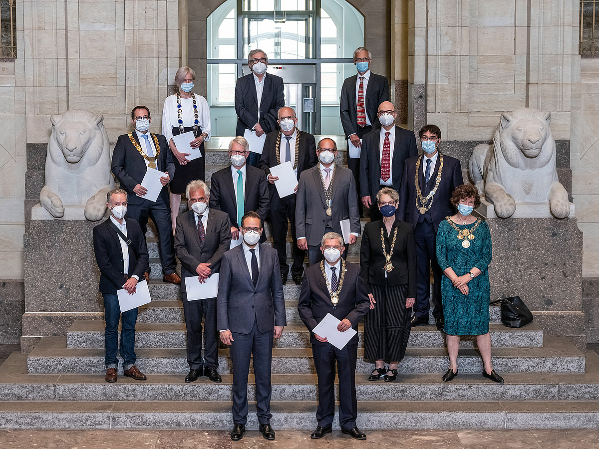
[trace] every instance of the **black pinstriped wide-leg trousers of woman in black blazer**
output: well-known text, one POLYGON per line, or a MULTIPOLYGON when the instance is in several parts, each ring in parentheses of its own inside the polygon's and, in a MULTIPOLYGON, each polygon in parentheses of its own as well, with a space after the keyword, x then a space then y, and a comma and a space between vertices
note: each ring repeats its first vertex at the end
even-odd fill
POLYGON ((400 362, 410 338, 412 308, 406 309, 408 286, 368 284, 374 309, 364 317, 364 359, 400 362))

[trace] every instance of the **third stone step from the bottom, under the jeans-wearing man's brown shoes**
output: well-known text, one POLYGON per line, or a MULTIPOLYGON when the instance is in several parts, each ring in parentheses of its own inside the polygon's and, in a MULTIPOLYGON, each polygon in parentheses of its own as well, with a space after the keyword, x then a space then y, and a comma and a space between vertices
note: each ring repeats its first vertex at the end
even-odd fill
MULTIPOLYGON (((497 372, 584 372, 585 356, 567 338, 545 337, 542 348, 493 348, 492 363, 497 372)), ((136 350, 136 365, 146 374, 173 374, 187 371, 184 349, 136 350)), ((229 374, 228 350, 219 351, 219 371, 229 374)), ((29 374, 102 374, 105 372, 104 350, 66 348, 66 337, 43 337, 27 359, 29 374)), ((480 354, 474 349, 460 351, 459 371, 482 372, 480 354)), ((364 360, 358 349, 356 372, 367 374, 373 365, 364 360)), ((447 369, 444 348, 408 348, 398 366, 400 374, 443 374, 447 369)), ((312 351, 308 348, 274 348, 273 374, 314 373, 312 351)))

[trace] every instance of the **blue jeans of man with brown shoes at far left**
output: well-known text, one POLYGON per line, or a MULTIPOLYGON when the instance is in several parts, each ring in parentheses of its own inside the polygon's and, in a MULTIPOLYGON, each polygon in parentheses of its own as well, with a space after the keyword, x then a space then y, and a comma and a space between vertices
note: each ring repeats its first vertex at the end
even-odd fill
POLYGON ((108 293, 104 296, 104 320, 106 330, 104 331, 104 345, 106 347, 106 369, 119 368, 119 360, 116 354, 119 350, 119 318, 121 315, 122 326, 120 331, 120 356, 123 358, 123 370, 135 365, 135 321, 137 321, 137 307, 120 313, 119 297, 108 293))

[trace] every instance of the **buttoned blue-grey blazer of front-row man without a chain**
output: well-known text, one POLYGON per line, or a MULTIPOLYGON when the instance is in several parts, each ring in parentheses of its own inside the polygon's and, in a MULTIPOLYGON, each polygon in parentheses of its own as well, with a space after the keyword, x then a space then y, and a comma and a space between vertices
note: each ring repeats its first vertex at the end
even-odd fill
POLYGON ((287 325, 279 256, 271 247, 258 244, 257 248, 260 267, 256 287, 243 254, 243 245, 223 254, 216 298, 219 330, 250 333, 254 320, 262 333, 273 330, 274 326, 287 325))

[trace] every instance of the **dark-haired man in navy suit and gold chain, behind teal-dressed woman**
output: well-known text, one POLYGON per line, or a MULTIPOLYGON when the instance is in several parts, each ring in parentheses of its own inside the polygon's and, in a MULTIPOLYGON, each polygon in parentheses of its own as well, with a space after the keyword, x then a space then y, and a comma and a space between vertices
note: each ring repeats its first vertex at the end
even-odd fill
POLYGON ((404 164, 397 217, 415 227, 418 289, 412 327, 428 325, 431 266, 434 282, 432 299, 435 305, 432 314, 437 321, 437 329, 443 330, 443 271, 437 263, 437 228, 445 217, 455 213, 450 199, 453 190, 464 181, 459 160, 438 151, 441 141, 438 126, 425 125, 418 135, 422 141, 423 154, 410 157, 404 164))

